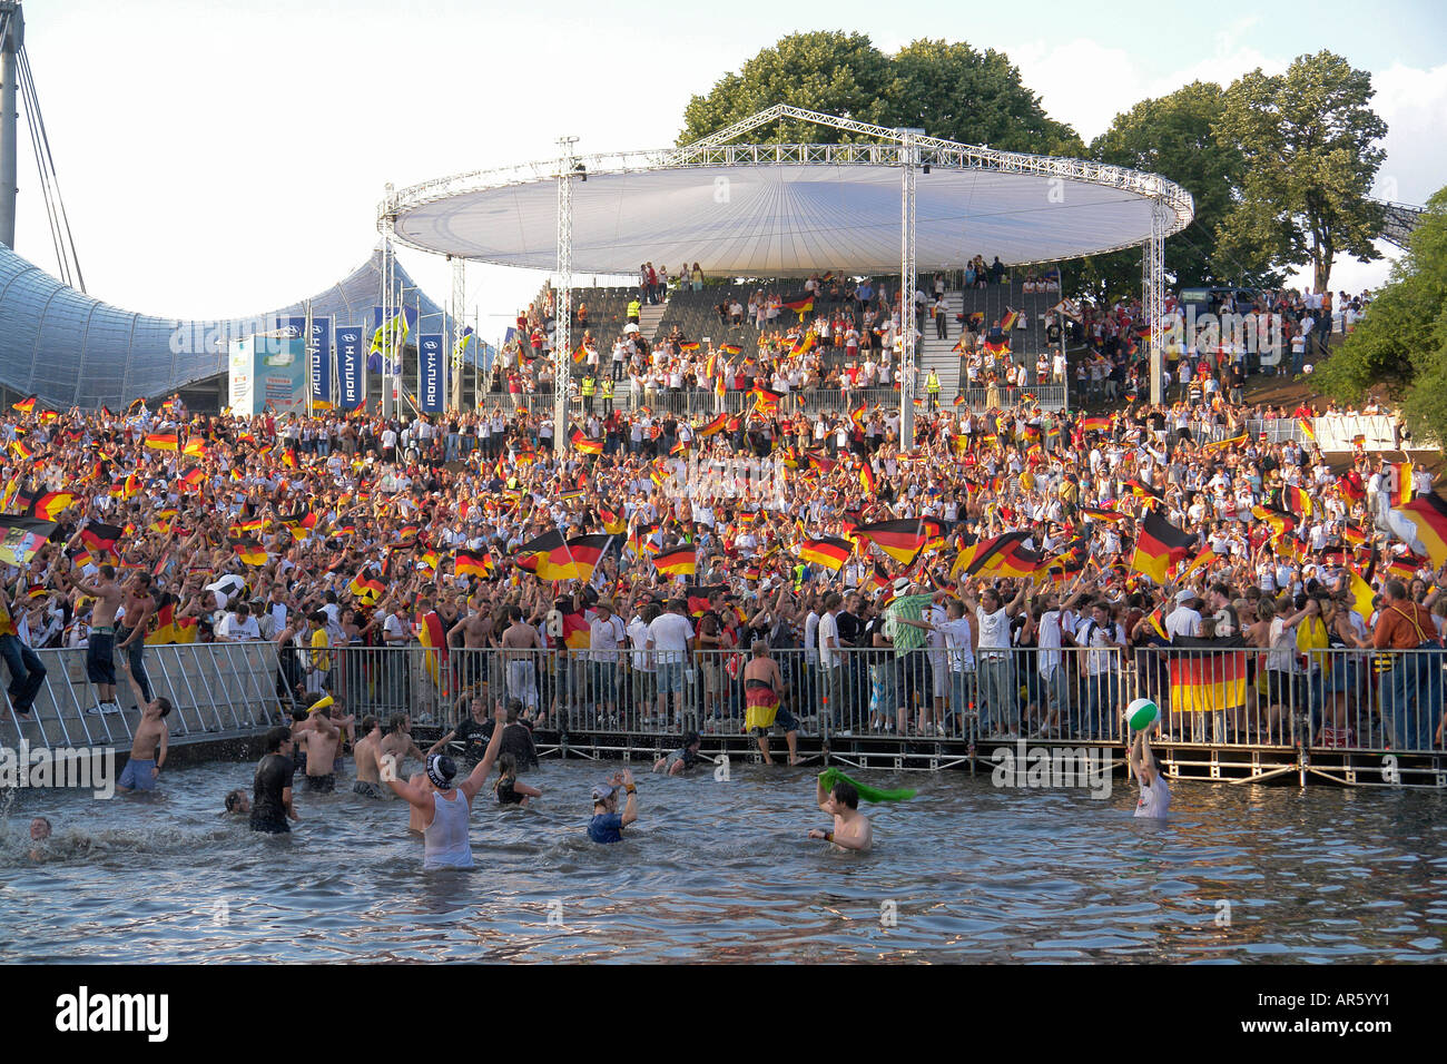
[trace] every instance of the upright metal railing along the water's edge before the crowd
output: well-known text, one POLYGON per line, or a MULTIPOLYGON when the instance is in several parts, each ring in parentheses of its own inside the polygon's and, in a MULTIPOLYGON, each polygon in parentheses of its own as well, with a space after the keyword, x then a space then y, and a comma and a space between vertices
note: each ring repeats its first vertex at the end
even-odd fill
MULTIPOLYGON (((1137 696, 1162 711, 1160 738, 1240 748, 1431 753, 1443 728, 1447 651, 1010 649, 774 650, 778 721, 806 737, 1007 737, 1120 744, 1137 696)), ((472 698, 517 698, 538 727, 616 734, 742 734, 751 654, 333 649, 330 667, 295 651, 304 688, 344 712, 450 728, 472 698)), ((284 662, 284 669, 285 669, 284 662)), ((757 688, 754 688, 757 691, 757 688)), ((758 695, 754 696, 755 699, 758 695)), ((776 728, 781 734, 783 728, 776 728)))

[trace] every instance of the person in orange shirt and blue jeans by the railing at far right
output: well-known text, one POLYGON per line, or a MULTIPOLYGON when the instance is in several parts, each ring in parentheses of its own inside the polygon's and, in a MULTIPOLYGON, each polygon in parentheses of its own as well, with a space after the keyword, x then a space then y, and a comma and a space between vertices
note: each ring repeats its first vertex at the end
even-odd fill
MULTIPOLYGON (((1433 592, 1427 607, 1435 598, 1433 592)), ((1395 654, 1392 670, 1382 676, 1382 717, 1391 728, 1392 748, 1431 750, 1433 708, 1441 705, 1441 654, 1428 649, 1441 644, 1433 615, 1408 598, 1401 580, 1386 583, 1386 605, 1378 614, 1372 646, 1409 651, 1395 654)))

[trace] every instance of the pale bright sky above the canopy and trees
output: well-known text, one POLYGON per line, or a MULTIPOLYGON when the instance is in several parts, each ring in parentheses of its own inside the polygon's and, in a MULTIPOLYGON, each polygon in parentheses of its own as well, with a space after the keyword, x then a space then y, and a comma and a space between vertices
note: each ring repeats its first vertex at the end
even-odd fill
MULTIPOLYGON (((818 7, 32 0, 25 16, 87 290, 162 317, 249 316, 323 291, 376 246, 386 182, 553 158, 563 135, 585 153, 670 145, 692 96, 803 30, 864 32, 886 52, 919 38, 1003 51, 1087 142, 1142 98, 1330 48, 1373 75, 1391 130, 1376 193, 1420 204, 1447 182, 1440 4, 818 7)), ((55 272, 25 129, 19 139, 16 250, 55 272)), ((447 301, 449 266, 399 258, 447 301)), ((1378 285, 1388 268, 1338 259, 1331 287, 1378 285)), ((498 337, 544 276, 469 265, 482 336, 498 337)))

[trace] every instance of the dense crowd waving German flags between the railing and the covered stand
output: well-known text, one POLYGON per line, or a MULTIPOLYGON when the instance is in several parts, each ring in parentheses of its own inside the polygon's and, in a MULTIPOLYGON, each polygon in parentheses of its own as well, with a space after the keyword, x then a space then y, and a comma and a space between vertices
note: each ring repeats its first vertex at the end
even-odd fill
MULTIPOLYGON (((155 627, 150 641, 276 641, 301 691, 360 699, 363 659, 349 651, 420 636, 431 653, 538 646, 573 664, 540 659, 525 682, 506 677, 534 719, 673 724, 690 708, 729 728, 748 692, 724 663, 763 641, 799 650, 776 692, 783 722, 1088 735, 1108 730, 1123 660, 1200 637, 1249 649, 1250 696, 1224 708, 1221 734, 1281 737, 1310 719, 1343 746, 1430 746, 1440 666, 1435 680, 1379 676, 1372 650, 1443 631, 1447 575, 1373 520, 1404 489, 1431 492, 1431 476, 1362 450, 1333 468, 1310 443, 1244 430, 1312 413, 1220 397, 1110 417, 945 407, 920 413, 910 450, 893 404, 806 415, 761 401, 693 424, 583 415, 566 452, 551 420, 525 411, 242 418, 172 400, 12 413, 0 508, 56 527, 6 570, 0 650, 13 704, 32 672, 25 649, 87 644, 87 588, 109 565, 139 611, 117 624, 155 627), (1208 444, 1202 423, 1242 428, 1208 444), (1185 537, 1168 569, 1140 563, 1147 520, 1185 537), (880 523, 894 524, 857 531, 880 523), (535 575, 528 546, 554 531, 605 539, 586 579, 535 575), (974 557, 1001 537, 1009 550, 974 557), (655 565, 674 556, 686 575, 655 565), (1354 594, 1353 572, 1375 596, 1354 594), (560 647, 557 611, 582 646, 560 647), (702 666, 697 680, 663 667, 676 663, 702 666), (574 666, 580 686, 564 679, 574 666)), ((1160 660, 1139 664, 1169 705, 1160 660)), ((467 686, 443 676, 449 693, 467 686)))

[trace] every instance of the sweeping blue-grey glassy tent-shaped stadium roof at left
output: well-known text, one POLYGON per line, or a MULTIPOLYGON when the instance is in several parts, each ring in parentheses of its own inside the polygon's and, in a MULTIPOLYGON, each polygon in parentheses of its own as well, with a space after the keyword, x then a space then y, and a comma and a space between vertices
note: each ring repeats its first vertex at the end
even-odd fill
MULTIPOLYGON (((415 305, 418 290, 395 265, 396 287, 415 305)), ((333 326, 368 326, 382 295, 382 252, 311 298, 314 317, 333 326)), ((54 408, 124 407, 169 395, 226 373, 233 337, 276 329, 305 314, 298 301, 281 310, 224 321, 175 321, 111 307, 46 274, 0 245, 0 387, 35 394, 54 408)), ((446 333, 450 318, 425 294, 415 332, 446 333)), ((469 347, 476 350, 476 345, 469 347)))

